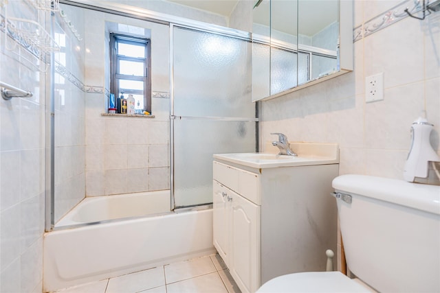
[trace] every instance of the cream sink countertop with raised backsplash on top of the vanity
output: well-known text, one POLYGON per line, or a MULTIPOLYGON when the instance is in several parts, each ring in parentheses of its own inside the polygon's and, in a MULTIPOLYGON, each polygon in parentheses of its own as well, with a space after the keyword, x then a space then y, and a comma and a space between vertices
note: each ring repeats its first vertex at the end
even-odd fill
POLYGON ((291 143, 298 156, 270 152, 214 154, 214 159, 254 168, 294 167, 339 163, 337 143, 291 143))

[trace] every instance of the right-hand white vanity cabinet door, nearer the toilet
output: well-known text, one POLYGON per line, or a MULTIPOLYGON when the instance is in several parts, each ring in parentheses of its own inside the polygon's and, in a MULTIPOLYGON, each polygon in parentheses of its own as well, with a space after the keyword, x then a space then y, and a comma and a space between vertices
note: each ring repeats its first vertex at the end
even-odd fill
POLYGON ((230 226, 230 273, 242 292, 255 292, 260 286, 260 207, 233 194, 230 226))

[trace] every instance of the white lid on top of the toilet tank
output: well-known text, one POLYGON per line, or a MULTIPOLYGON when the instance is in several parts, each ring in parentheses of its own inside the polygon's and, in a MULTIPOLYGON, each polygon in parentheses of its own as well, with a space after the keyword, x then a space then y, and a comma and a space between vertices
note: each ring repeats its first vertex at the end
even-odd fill
POLYGON ((333 188, 342 193, 367 196, 440 215, 440 186, 367 175, 341 175, 333 188))

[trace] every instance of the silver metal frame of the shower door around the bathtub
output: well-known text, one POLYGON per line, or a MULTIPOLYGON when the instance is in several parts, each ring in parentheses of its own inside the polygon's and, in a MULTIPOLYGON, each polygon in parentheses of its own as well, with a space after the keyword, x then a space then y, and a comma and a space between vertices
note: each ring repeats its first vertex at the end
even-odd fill
MULTIPOLYGON (((132 19, 139 19, 141 21, 149 21, 153 23, 159 23, 162 25, 168 25, 170 29, 170 117, 169 117, 169 123, 170 123, 170 211, 175 211, 175 200, 174 200, 174 126, 173 126, 173 119, 176 117, 174 116, 174 89, 173 89, 173 27, 185 27, 191 30, 197 30, 200 32, 208 32, 212 34, 219 34, 221 36, 228 36, 231 38, 238 38, 240 40, 246 40, 250 43, 252 43, 252 33, 250 32, 244 32, 241 30, 235 30, 230 27, 222 27, 220 25, 213 25, 210 23, 203 23, 201 21, 194 21, 191 19, 185 19, 183 17, 179 16, 173 16, 170 14, 164 14, 160 12, 154 12, 151 10, 146 10, 144 8, 138 8, 135 6, 129 6, 129 5, 121 5, 114 2, 106 2, 106 3, 96 3, 96 1, 91 0, 59 0, 59 3, 65 4, 65 5, 72 5, 78 8, 84 8, 89 10, 95 10, 98 12, 104 12, 109 14, 114 14, 118 16, 124 16, 129 17, 132 19)), ((50 25, 53 27, 54 23, 54 14, 51 15, 51 22, 50 25)), ((52 34, 52 32, 51 32, 52 34)), ((50 65, 50 95, 47 95, 47 105, 50 105, 49 108, 47 108, 46 113, 46 133, 50 134, 50 137, 47 137, 46 135, 46 148, 45 148, 45 231, 50 232, 55 230, 55 223, 54 223, 54 210, 55 210, 55 182, 54 182, 54 159, 55 159, 55 147, 54 147, 54 53, 51 54, 51 65, 50 65)), ((235 118, 221 118, 223 121, 231 121, 236 120, 235 118)), ((256 138, 255 138, 255 149, 256 152, 259 150, 259 102, 255 102, 255 118, 254 119, 243 119, 243 121, 255 121, 256 125, 256 138)), ((179 211, 184 211, 187 209, 206 209, 209 208, 209 206, 212 204, 201 204, 197 207, 179 207, 179 211)), ((108 222, 118 221, 116 220, 109 220, 108 222)), ((89 226, 91 224, 99 224, 99 222, 96 223, 85 223, 85 224, 78 224, 74 225, 75 227, 80 226, 89 226)), ((72 226, 63 226, 60 228, 56 228, 56 230, 62 230, 72 228, 72 226)))

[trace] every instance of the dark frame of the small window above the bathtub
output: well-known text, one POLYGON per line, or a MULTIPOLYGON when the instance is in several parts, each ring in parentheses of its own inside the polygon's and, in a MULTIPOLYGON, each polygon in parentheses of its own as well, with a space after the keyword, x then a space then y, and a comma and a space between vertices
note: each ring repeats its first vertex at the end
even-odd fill
MULTIPOLYGON (((110 91, 115 93, 115 98, 119 97, 120 80, 142 81, 144 84, 144 109, 151 113, 151 40, 138 36, 129 36, 126 34, 110 33, 110 91), (145 58, 130 57, 118 54, 117 43, 126 43, 131 45, 144 45, 145 58), (120 74, 119 60, 135 61, 144 63, 144 76, 120 74)), ((138 95, 137 90, 124 91, 124 95, 138 95)))

